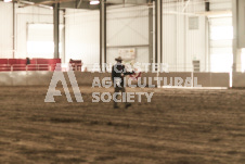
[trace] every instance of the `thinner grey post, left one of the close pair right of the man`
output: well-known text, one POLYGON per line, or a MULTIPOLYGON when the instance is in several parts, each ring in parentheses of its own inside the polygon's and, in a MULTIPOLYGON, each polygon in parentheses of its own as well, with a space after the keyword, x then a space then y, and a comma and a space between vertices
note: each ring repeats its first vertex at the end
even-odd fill
MULTIPOLYGON (((151 1, 152 2, 152 1, 151 1)), ((149 8, 149 62, 153 62, 153 8, 149 8)), ((150 71, 152 66, 150 66, 150 71)))

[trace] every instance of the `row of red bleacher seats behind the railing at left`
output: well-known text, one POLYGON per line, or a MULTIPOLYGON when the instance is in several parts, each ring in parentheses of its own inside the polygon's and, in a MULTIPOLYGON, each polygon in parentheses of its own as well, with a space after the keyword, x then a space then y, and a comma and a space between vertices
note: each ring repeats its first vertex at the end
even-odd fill
POLYGON ((26 64, 26 59, 0 59, 0 72, 10 71, 54 71, 61 59, 31 59, 26 64))

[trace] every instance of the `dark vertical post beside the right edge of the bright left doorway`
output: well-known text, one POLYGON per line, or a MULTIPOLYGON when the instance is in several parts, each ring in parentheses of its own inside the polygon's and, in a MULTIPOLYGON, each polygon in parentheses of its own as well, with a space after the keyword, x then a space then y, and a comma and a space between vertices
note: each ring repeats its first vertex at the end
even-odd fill
POLYGON ((59 53, 59 26, 60 26, 60 3, 53 4, 53 41, 54 41, 54 59, 60 58, 59 53))

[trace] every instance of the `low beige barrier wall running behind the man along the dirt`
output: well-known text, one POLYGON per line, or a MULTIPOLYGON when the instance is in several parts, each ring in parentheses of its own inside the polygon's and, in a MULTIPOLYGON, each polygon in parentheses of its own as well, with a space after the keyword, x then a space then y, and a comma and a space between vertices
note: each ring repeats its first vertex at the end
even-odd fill
MULTIPOLYGON (((1 72, 0 73, 0 87, 2 86, 49 86, 52 79, 53 72, 1 72)), ((67 84, 69 85, 67 73, 64 73, 67 84)), ((109 77, 109 73, 91 73, 91 72, 75 72, 75 76, 79 86, 91 86, 93 84, 94 77, 99 77, 102 79, 104 77, 109 77)), ((147 86, 151 85, 149 81, 150 78, 153 81, 153 85, 157 85, 155 77, 157 77, 156 73, 142 73, 142 77, 146 77, 147 86)), ((175 81, 176 77, 181 77, 183 79, 183 87, 184 81, 189 77, 197 78, 197 85, 202 87, 230 87, 230 78, 228 73, 194 73, 192 76, 191 72, 182 73, 182 72, 175 72, 175 73, 160 73, 158 77, 163 77, 167 79, 167 85, 170 85, 170 80, 175 81)), ((237 76, 235 77, 237 78, 237 76)), ((240 76, 245 81, 245 76, 240 76)), ((143 84, 143 78, 142 78, 143 84)), ((245 83, 244 83, 245 84, 245 83)), ((165 86, 164 81, 160 83, 160 86, 165 86)), ((171 85, 175 87, 175 83, 171 85)), ((236 84, 235 84, 236 85, 236 84)), ((194 86, 195 87, 195 86, 194 86)), ((238 86, 245 87, 245 85, 238 86)))

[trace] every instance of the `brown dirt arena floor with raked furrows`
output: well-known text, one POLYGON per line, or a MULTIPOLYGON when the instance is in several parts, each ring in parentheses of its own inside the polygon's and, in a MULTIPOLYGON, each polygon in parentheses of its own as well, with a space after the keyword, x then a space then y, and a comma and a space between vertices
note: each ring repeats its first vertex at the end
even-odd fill
POLYGON ((155 92, 127 110, 91 102, 112 88, 81 87, 83 103, 47 90, 0 88, 1 164, 245 163, 245 90, 127 89, 155 92))

